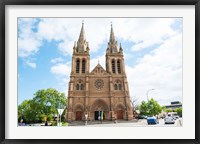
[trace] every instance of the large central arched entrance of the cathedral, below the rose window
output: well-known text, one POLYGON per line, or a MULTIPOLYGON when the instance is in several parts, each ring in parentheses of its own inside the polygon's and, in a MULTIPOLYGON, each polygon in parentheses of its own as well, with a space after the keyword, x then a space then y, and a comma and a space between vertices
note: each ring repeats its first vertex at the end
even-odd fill
POLYGON ((94 120, 105 120, 107 119, 108 106, 102 99, 98 99, 92 105, 92 111, 94 114, 94 120))

